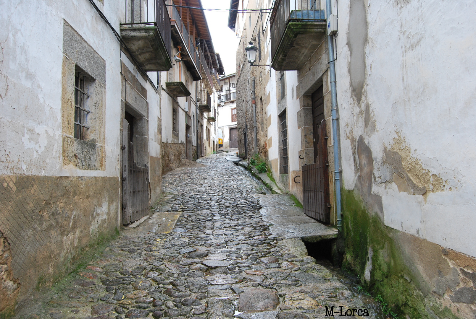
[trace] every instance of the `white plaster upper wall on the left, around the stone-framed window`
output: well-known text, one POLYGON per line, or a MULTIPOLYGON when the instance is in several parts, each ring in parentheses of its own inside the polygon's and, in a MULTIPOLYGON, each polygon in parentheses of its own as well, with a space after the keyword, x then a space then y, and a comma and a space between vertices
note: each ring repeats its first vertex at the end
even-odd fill
MULTIPOLYGON (((119 29, 122 6, 98 5, 119 29)), ((119 43, 109 27, 88 1, 1 1, 0 6, 1 174, 118 176, 119 43), (106 60, 105 171, 62 168, 64 20, 106 60)))

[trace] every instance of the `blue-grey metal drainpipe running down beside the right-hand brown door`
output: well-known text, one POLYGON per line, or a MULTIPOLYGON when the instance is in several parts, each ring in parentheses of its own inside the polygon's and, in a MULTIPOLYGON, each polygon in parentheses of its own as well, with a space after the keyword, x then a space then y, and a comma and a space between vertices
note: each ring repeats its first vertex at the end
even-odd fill
MULTIPOLYGON (((326 13, 329 18, 332 12, 331 0, 326 0, 326 13)), ((329 73, 330 73, 330 91, 332 96, 332 138, 334 140, 334 181, 336 185, 336 211, 337 211, 337 229, 342 231, 341 215, 341 193, 340 193, 340 162, 339 162, 339 135, 337 132, 337 85, 336 85, 336 64, 334 62, 334 39, 327 36, 327 47, 329 51, 329 73)))

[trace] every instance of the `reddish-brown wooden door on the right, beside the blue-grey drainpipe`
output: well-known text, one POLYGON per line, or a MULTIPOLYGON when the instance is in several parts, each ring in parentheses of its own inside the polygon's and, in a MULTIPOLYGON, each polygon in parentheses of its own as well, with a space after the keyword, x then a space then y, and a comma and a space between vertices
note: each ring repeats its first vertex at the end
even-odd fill
POLYGON ((329 223, 329 163, 327 161, 327 130, 322 87, 313 95, 313 126, 315 163, 302 167, 304 213, 318 221, 329 223))

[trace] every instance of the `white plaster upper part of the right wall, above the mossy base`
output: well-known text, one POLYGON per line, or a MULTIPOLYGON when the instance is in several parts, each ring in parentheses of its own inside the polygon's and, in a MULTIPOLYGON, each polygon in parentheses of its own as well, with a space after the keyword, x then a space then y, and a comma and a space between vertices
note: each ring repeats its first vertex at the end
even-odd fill
POLYGON ((356 184, 355 143, 362 135, 372 150, 372 192, 382 197, 385 224, 476 256, 476 2, 365 0, 353 11, 349 2, 338 5, 343 186, 356 184), (352 23, 365 20, 367 34, 352 32, 352 23), (365 66, 352 66, 360 56, 365 66), (407 154, 409 175, 441 180, 440 191, 399 192, 385 149, 407 154))

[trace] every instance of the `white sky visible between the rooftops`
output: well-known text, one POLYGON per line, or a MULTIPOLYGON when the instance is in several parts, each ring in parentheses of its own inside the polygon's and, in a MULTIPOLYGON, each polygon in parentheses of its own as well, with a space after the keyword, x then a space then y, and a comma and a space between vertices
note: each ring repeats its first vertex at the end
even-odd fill
MULTIPOLYGON (((202 0, 206 9, 230 9, 229 0, 202 0)), ((208 29, 210 29, 213 47, 220 54, 225 74, 236 71, 236 51, 239 39, 235 32, 228 28, 228 11, 207 11, 208 29)))

